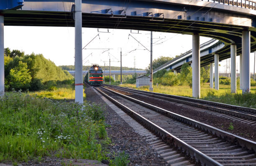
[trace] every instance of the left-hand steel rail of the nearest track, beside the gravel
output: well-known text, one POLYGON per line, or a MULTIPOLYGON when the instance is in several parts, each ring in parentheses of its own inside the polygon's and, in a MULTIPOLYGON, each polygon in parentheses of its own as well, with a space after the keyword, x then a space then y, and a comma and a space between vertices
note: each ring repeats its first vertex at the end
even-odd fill
MULTIPOLYGON (((103 88, 103 87, 101 87, 101 88, 103 88)), ((143 124, 143 126, 148 128, 149 130, 153 131, 155 134, 157 134, 161 138, 166 137, 166 136, 170 137, 172 139, 172 141, 169 142, 169 143, 172 143, 172 145, 174 145, 174 146, 178 146, 180 150, 182 150, 184 153, 186 153, 191 158, 194 157, 194 159, 195 159, 195 161, 197 163, 201 163, 202 166, 204 166, 204 165, 206 165, 206 166, 223 166, 222 164, 220 164, 217 161, 213 160, 209 156, 203 154, 202 152, 200 152, 197 149, 193 148, 189 144, 187 144, 184 141, 180 140, 176 136, 170 134, 168 131, 162 129, 161 127, 159 127, 158 125, 152 123, 151 121, 149 121, 148 119, 144 118, 140 114, 136 113, 135 111, 129 109, 125 105, 123 105, 120 102, 116 101, 115 99, 113 99, 112 97, 108 96, 104 92, 100 91, 97 88, 95 88, 95 89, 98 92, 100 92, 100 94, 102 94, 104 97, 106 97, 111 102, 113 102, 115 105, 117 105, 119 108, 123 109, 130 116, 134 117, 136 119, 136 121, 138 121, 139 123, 143 124)), ((106 89, 106 88, 103 88, 103 89, 106 89)), ((109 89, 107 89, 107 90, 109 90, 109 89)))

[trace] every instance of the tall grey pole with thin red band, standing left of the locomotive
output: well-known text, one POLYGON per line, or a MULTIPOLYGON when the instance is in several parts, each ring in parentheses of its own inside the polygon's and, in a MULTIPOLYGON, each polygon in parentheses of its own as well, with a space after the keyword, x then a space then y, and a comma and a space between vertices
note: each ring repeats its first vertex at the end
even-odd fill
POLYGON ((82 0, 75 0, 75 102, 83 104, 82 0))

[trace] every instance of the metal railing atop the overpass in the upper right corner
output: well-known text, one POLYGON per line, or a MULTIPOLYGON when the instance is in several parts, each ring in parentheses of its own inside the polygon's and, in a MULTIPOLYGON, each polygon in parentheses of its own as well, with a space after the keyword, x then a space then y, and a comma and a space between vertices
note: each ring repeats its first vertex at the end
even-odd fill
POLYGON ((255 0, 202 0, 207 2, 221 3, 224 5, 231 5, 236 7, 243 7, 252 10, 256 10, 255 0))

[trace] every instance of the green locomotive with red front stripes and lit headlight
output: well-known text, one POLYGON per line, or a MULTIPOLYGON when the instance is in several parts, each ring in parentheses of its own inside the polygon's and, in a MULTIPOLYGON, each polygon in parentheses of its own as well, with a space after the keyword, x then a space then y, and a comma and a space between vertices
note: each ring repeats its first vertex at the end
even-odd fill
POLYGON ((84 77, 84 81, 91 86, 100 86, 103 83, 103 72, 97 64, 93 64, 84 77))

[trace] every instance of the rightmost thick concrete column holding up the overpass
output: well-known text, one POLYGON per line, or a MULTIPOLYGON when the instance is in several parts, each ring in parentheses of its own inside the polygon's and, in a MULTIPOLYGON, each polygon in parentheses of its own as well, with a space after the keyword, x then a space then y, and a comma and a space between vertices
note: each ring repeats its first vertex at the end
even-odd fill
POLYGON ((251 32, 243 31, 242 33, 242 91, 244 93, 250 92, 250 51, 251 51, 251 32))

